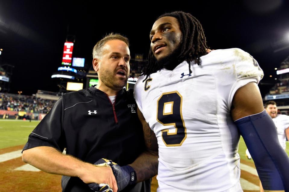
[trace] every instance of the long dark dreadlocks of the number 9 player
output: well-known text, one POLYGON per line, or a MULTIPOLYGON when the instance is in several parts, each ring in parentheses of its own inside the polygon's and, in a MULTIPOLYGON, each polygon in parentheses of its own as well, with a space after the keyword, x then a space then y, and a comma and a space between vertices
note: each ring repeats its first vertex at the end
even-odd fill
MULTIPOLYGON (((203 27, 199 20, 197 20, 191 14, 183 11, 165 13, 159 16, 156 20, 166 16, 175 17, 178 21, 182 32, 182 42, 180 44, 181 51, 177 56, 177 61, 182 62, 186 60, 189 64, 189 72, 191 74, 192 71, 190 62, 195 61, 195 63, 200 65, 200 57, 206 54, 206 48, 208 48, 203 27)), ((161 66, 156 64, 157 61, 153 55, 152 48, 149 49, 148 61, 149 64, 145 67, 143 73, 141 74, 146 75, 144 81, 150 74, 162 69, 161 66)))

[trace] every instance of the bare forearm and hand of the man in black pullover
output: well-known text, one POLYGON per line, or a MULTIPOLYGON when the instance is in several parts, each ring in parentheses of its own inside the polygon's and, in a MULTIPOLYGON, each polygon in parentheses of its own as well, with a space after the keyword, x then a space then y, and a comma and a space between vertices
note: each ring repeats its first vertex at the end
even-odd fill
POLYGON ((39 146, 24 150, 22 159, 44 172, 79 177, 84 183, 107 183, 117 191, 110 167, 96 167, 73 156, 64 155, 53 147, 39 146))

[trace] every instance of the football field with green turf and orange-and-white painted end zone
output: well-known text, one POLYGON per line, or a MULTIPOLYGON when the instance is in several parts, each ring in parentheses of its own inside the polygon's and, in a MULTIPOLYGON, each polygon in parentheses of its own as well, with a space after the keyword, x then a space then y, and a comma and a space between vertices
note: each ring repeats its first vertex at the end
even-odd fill
MULTIPOLYGON (((21 159, 21 150, 28 135, 39 121, 0 120, 0 191, 61 191, 61 176, 52 175, 32 166, 27 166, 21 159), (16 156, 3 161, 4 154, 16 156), (1 160, 2 159, 2 160, 1 160)), ((289 144, 287 142, 287 154, 289 144)), ((245 192, 259 191, 259 178, 253 160, 245 156, 246 145, 240 139, 239 154, 241 162, 241 185, 245 192)), ((152 192, 156 191, 157 180, 153 178, 152 192)))

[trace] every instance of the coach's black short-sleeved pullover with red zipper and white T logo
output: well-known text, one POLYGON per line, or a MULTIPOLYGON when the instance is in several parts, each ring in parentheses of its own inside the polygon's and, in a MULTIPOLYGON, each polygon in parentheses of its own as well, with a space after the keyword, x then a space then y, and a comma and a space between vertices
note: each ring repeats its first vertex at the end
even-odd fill
MULTIPOLYGON (((115 103, 99 89, 63 94, 29 135, 23 150, 50 146, 85 162, 111 159, 120 166, 132 163, 144 150, 143 132, 132 94, 118 92, 115 103)), ((79 178, 63 178, 63 191, 91 191, 79 178)), ((122 191, 150 191, 147 181, 122 191), (128 189, 130 188, 130 189, 128 189)))

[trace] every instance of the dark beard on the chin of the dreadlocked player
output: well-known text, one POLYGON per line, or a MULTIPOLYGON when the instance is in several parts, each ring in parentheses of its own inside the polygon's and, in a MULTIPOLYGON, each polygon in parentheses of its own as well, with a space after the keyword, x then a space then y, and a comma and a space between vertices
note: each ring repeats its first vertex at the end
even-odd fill
POLYGON ((159 69, 165 68, 168 70, 173 70, 175 67, 178 66, 178 64, 180 64, 179 60, 180 52, 181 52, 181 43, 167 56, 156 61, 155 64, 158 66, 159 69))

